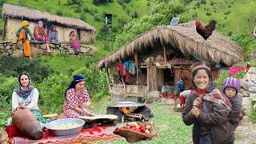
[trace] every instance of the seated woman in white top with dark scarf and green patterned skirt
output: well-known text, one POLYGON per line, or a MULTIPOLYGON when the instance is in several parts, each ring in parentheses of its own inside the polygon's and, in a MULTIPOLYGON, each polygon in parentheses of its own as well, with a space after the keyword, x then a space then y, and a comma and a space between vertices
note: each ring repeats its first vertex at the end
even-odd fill
POLYGON ((38 89, 30 86, 30 75, 20 74, 18 82, 20 86, 12 94, 12 112, 14 113, 18 109, 29 109, 39 122, 50 122, 50 119, 42 118, 38 108, 38 89))

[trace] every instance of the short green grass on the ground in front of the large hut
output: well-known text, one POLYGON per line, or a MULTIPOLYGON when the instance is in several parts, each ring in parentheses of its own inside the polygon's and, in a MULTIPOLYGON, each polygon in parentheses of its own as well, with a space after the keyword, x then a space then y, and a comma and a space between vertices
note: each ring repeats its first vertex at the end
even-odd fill
MULTIPOLYGON (((106 106, 113 102, 110 98, 105 99, 100 103, 94 103, 93 108, 96 114, 106 114, 106 106), (99 107, 100 106, 100 107, 99 107)), ((150 104, 154 112, 154 118, 150 119, 158 130, 158 137, 150 141, 142 141, 138 143, 191 143, 192 142, 192 126, 186 126, 182 121, 182 114, 174 112, 170 105, 154 102, 150 104)), ((122 123, 118 125, 123 125, 122 123)), ((125 139, 114 141, 96 142, 96 143, 127 143, 125 139)))

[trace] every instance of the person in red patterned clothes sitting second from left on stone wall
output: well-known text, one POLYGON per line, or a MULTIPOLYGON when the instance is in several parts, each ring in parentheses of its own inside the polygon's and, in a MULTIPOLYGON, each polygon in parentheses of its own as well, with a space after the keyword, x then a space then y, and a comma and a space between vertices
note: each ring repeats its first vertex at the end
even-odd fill
POLYGON ((39 21, 38 26, 34 27, 34 39, 39 43, 46 44, 47 53, 51 53, 49 39, 47 38, 46 29, 43 27, 43 22, 39 21))

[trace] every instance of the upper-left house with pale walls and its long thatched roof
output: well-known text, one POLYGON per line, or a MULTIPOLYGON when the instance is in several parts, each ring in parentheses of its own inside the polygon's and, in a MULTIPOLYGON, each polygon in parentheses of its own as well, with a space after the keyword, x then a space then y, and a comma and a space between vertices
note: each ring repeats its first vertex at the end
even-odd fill
POLYGON ((56 25, 58 30, 58 38, 62 43, 69 42, 70 31, 74 30, 80 42, 94 42, 96 29, 88 23, 78 18, 65 18, 58 15, 49 14, 40 10, 34 10, 25 6, 18 6, 10 3, 4 3, 2 6, 2 18, 4 21, 4 29, 2 38, 4 40, 16 41, 15 34, 21 27, 22 20, 30 22, 29 29, 34 31, 39 20, 44 22, 44 27, 50 30, 51 25, 56 25))

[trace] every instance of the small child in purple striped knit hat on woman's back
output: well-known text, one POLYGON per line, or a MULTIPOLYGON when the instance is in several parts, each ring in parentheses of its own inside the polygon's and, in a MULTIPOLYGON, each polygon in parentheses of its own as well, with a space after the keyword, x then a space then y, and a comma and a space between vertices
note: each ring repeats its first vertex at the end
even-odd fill
POLYGON ((226 78, 222 83, 223 93, 230 99, 230 103, 232 105, 229 118, 234 129, 240 124, 243 115, 245 114, 242 110, 242 98, 238 94, 240 88, 240 81, 237 78, 226 78))

